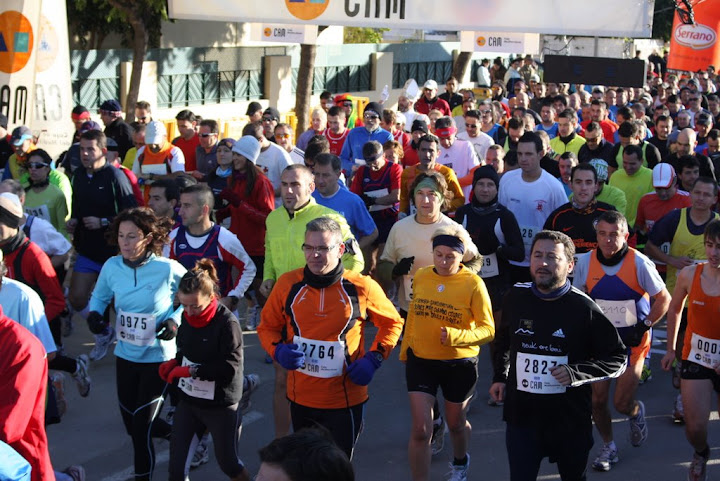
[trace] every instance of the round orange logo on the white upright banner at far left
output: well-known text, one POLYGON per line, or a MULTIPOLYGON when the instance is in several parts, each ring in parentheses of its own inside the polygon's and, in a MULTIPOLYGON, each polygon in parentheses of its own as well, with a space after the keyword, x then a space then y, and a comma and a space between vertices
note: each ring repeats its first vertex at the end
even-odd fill
POLYGON ((27 65, 34 48, 30 20, 20 12, 0 14, 0 72, 15 73, 27 65))

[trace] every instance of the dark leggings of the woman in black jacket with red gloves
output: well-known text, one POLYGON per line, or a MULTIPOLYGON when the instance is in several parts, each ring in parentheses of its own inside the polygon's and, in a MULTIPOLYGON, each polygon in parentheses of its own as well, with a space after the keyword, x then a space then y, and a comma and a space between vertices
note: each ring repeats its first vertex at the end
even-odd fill
POLYGON ((202 437, 207 429, 213 438, 215 459, 223 473, 235 478, 244 466, 238 457, 238 443, 242 432, 242 414, 238 404, 219 407, 199 407, 180 399, 173 417, 170 438, 170 481, 185 480, 185 462, 193 436, 202 437))

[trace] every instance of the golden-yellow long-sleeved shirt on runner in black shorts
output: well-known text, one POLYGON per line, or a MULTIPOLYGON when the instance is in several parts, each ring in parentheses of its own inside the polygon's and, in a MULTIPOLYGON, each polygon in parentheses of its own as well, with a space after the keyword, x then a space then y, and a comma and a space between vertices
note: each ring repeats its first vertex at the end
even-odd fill
POLYGON ((433 266, 417 271, 413 279, 400 360, 407 350, 422 359, 464 359, 480 353, 495 338, 490 296, 483 280, 465 266, 453 276, 441 276, 433 266), (445 344, 441 328, 447 329, 445 344))

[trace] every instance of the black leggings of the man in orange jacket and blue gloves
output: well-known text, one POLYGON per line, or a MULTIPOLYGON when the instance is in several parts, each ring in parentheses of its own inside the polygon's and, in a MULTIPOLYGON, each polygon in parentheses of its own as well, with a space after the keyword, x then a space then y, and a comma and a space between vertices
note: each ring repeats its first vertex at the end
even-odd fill
POLYGON ((332 435, 335 444, 352 459, 355 443, 363 427, 365 403, 341 409, 316 409, 290 402, 293 430, 324 427, 332 435))

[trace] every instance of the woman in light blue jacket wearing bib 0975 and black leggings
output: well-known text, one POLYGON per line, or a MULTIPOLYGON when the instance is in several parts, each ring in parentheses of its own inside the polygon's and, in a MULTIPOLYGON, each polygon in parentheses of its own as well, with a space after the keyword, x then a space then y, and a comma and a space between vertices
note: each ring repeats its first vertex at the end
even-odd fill
POLYGON ((173 307, 173 301, 186 272, 180 263, 159 257, 171 227, 169 219, 145 207, 115 217, 108 241, 118 245, 120 255, 105 263, 90 298, 88 327, 93 333, 109 328, 101 313, 115 300, 117 392, 133 442, 135 481, 152 477, 151 438, 170 436, 170 426, 158 418, 166 389, 158 366, 175 357, 182 308, 173 307))

